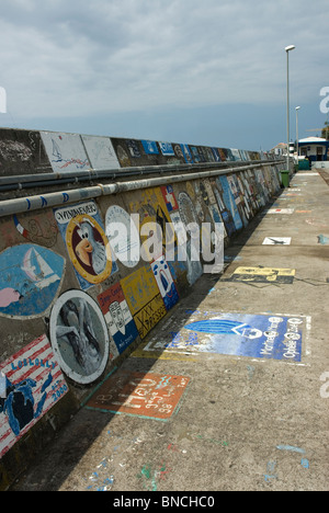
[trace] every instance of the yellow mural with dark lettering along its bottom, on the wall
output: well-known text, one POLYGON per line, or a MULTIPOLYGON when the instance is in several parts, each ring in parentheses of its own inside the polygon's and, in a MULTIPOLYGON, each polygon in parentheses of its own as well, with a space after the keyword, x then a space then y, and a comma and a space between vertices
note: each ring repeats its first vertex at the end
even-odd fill
POLYGON ((122 280, 121 286, 139 337, 145 339, 147 333, 167 315, 151 267, 147 265, 138 269, 122 280))

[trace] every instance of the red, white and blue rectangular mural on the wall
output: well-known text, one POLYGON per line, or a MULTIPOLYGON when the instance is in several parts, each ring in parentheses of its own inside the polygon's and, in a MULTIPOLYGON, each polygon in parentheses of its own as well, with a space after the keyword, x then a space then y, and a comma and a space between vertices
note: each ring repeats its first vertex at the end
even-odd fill
POLYGON ((109 326, 110 334, 121 354, 138 335, 121 285, 117 283, 100 294, 98 301, 109 326))

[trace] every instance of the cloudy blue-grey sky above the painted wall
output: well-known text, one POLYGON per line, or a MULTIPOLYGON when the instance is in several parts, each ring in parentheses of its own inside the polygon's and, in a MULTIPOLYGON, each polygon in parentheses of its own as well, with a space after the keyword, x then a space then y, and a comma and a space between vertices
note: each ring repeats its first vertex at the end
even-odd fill
POLYGON ((293 44, 291 138, 297 105, 317 135, 328 22, 328 0, 1 0, 0 126, 266 150, 293 44))

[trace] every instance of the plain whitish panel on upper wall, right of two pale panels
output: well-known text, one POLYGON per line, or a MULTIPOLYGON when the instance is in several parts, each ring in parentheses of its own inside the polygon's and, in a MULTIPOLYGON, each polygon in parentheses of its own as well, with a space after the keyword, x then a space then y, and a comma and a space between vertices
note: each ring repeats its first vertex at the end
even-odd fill
POLYGON ((118 169, 121 167, 110 137, 82 135, 81 139, 93 169, 118 169))

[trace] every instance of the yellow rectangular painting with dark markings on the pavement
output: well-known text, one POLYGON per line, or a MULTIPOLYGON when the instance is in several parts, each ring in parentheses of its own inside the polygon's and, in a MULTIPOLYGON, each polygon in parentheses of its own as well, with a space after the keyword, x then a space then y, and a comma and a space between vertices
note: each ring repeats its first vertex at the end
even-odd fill
POLYGON ((295 274, 296 271, 293 269, 238 267, 228 281, 292 284, 295 274))

